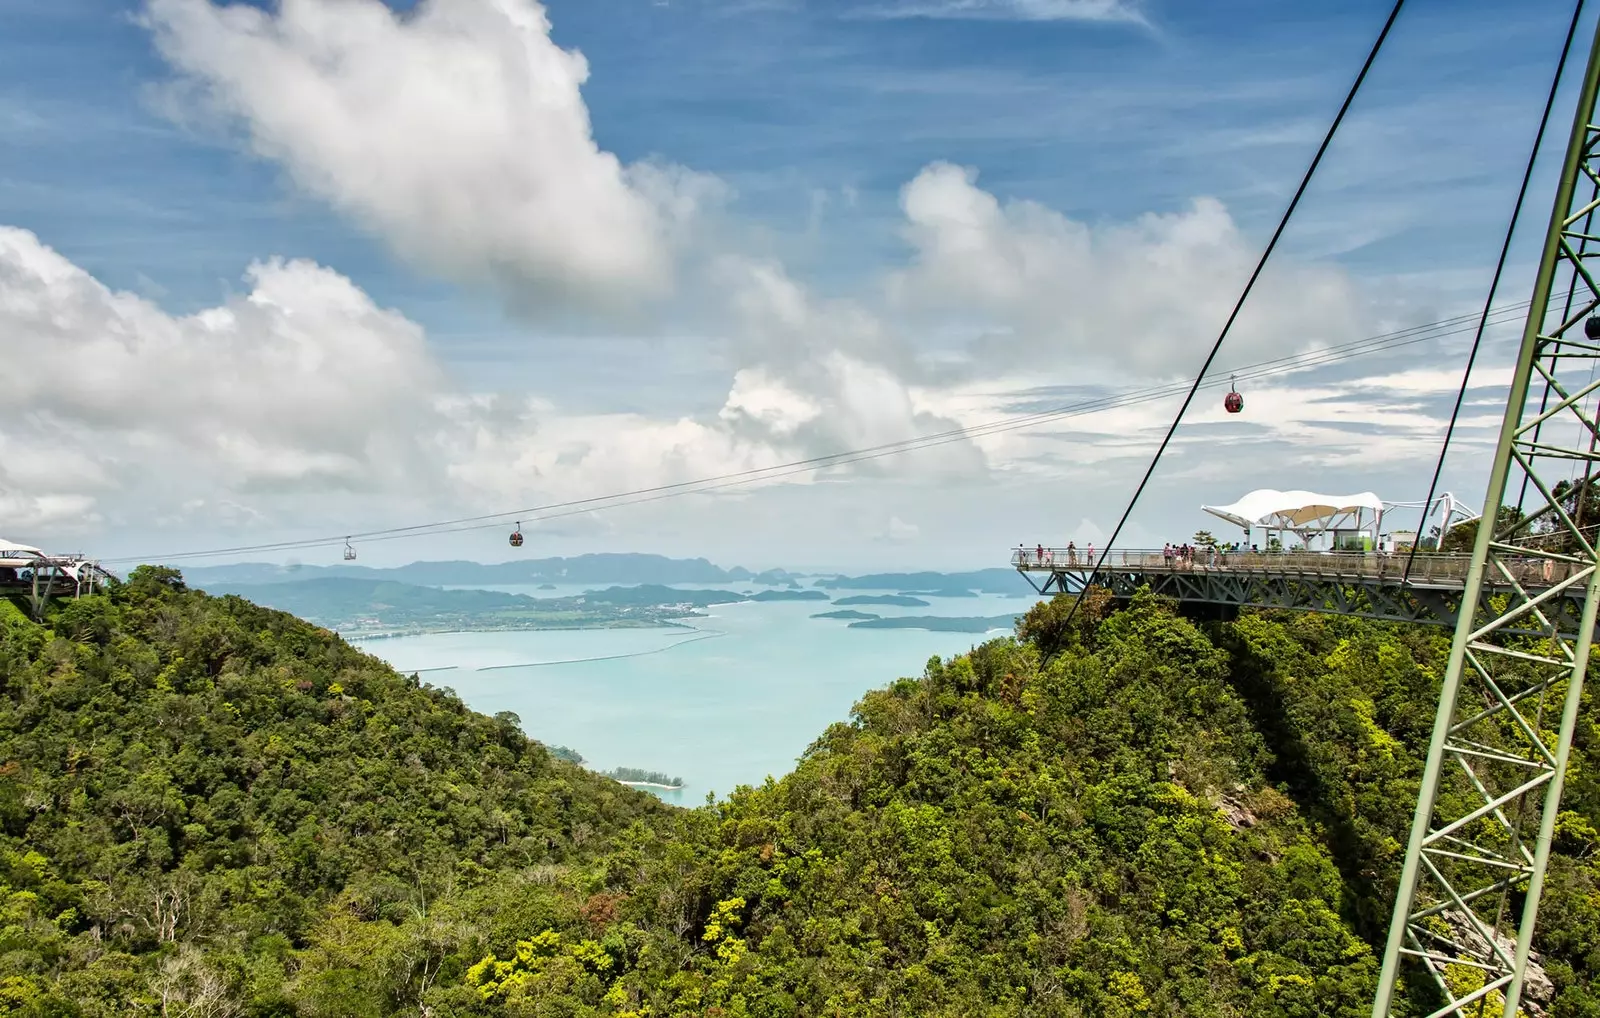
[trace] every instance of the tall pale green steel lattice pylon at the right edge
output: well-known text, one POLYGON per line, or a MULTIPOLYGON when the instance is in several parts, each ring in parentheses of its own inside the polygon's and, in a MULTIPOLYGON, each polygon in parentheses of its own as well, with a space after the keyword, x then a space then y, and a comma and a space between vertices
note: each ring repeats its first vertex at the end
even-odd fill
POLYGON ((1570 282, 1573 299, 1565 307, 1557 301, 1549 314, 1531 312, 1523 331, 1462 592, 1462 603, 1483 603, 1480 592, 1490 592, 1491 610, 1456 619, 1374 1018, 1390 1015, 1403 967, 1426 972, 1422 978, 1442 992, 1445 1004, 1430 1018, 1538 1016, 1541 997, 1547 999, 1549 983, 1536 964, 1530 967, 1533 932, 1600 605, 1594 544, 1600 520, 1582 519, 1597 461, 1600 391, 1600 330, 1595 338, 1586 330, 1600 306, 1600 285, 1586 261, 1600 254, 1590 250, 1600 237, 1589 232, 1595 200, 1574 200, 1600 194, 1597 54, 1600 29, 1533 307, 1550 307, 1557 283, 1570 282), (1518 499, 1522 519, 1499 512, 1518 499), (1565 576, 1528 589, 1512 562, 1530 557, 1549 560, 1565 576), (1578 626, 1558 621, 1563 599, 1568 611, 1581 605, 1578 626))

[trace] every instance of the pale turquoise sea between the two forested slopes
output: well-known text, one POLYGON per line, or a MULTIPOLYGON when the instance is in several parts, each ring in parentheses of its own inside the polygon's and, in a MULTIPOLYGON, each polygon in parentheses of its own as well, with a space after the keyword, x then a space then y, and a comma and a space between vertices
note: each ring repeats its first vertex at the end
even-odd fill
MULTIPOLYGON (((586 587, 491 587, 534 597, 586 587)), ((837 591, 835 599, 894 591, 837 591)), ((1022 615, 1038 599, 923 597, 928 607, 856 605, 890 616, 1022 615)), ((850 607, 850 605, 845 605, 850 607)), ((869 690, 1005 635, 851 629, 811 618, 822 600, 715 605, 688 629, 437 632, 363 640, 402 672, 448 687, 475 711, 512 711, 546 744, 597 770, 638 767, 683 778, 667 802, 699 805, 794 770, 806 747, 869 690)))

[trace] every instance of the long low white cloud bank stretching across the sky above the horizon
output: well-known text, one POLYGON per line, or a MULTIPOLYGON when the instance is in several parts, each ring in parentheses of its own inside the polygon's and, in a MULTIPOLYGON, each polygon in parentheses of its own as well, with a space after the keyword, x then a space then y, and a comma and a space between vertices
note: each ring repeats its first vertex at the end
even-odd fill
MULTIPOLYGON (((776 266, 725 269, 730 330, 746 336, 738 349, 749 357, 730 368, 722 400, 677 416, 573 413, 462 389, 416 323, 315 264, 256 264, 240 296, 173 315, 106 288, 32 234, 0 229, 0 355, 51 383, 0 403, 0 514, 10 520, 0 535, 102 544, 80 535, 128 527, 144 536, 122 549, 146 552, 475 515, 987 423, 1016 413, 1014 387, 1042 381, 1030 370, 907 381, 893 367, 901 341, 880 315, 818 299, 776 266)), ((1496 370, 1485 365, 1490 384, 1496 370)), ((1264 483, 1419 496, 1416 464, 1430 463, 1450 400, 1445 375, 1256 381, 1242 418, 1205 394, 1146 498, 1157 514, 1144 520, 1149 533, 1187 535, 1200 501, 1264 483)), ((981 554, 971 535, 1003 547, 1056 533, 1050 520, 1088 517, 1058 535, 1082 546, 1115 519, 1174 402, 806 471, 715 499, 523 527, 547 554, 603 541, 728 560, 766 554, 771 565, 803 565, 798 547, 811 562, 826 552, 858 565, 872 547, 906 544, 970 557, 981 554), (870 523, 894 517, 917 523, 870 523)), ((1498 407, 1472 408, 1461 448, 1491 439, 1498 416, 1498 407)), ((482 544, 451 552, 485 554, 482 544)), ((394 554, 450 555, 437 541, 394 554)))

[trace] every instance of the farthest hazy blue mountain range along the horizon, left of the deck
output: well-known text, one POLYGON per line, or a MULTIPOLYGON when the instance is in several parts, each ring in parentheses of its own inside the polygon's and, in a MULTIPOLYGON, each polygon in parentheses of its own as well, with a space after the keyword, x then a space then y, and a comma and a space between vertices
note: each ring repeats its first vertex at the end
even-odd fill
POLYGON ((358 579, 392 579, 418 586, 509 586, 509 584, 643 584, 643 583, 758 583, 763 586, 798 586, 786 570, 752 573, 734 567, 725 570, 706 559, 669 559, 632 552, 600 552, 573 559, 528 559, 523 562, 413 562, 395 568, 368 565, 274 565, 242 562, 238 565, 202 565, 184 570, 184 579, 195 587, 221 584, 291 583, 322 576, 358 579))

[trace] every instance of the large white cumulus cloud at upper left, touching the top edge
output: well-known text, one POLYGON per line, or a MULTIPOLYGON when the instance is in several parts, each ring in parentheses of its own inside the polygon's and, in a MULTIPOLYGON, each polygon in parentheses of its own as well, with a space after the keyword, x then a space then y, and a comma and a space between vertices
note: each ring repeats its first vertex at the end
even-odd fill
POLYGON ((622 165, 595 142, 589 64, 536 0, 149 0, 189 86, 296 184, 458 280, 518 303, 661 293, 707 176, 622 165))

